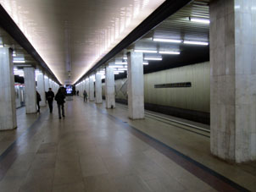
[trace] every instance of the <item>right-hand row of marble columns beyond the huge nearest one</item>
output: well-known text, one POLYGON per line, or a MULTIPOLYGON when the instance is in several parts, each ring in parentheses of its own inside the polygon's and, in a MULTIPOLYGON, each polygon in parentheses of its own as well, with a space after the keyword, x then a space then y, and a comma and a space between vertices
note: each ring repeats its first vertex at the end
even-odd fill
MULTIPOLYGON (((76 90, 88 93, 89 100, 96 103, 103 102, 102 76, 92 74, 86 80, 76 85, 76 90), (95 82, 95 85, 94 85, 95 82), (95 90, 94 90, 95 89, 95 90)), ((109 66, 105 69, 105 100, 106 108, 115 107, 114 69, 109 66)), ((144 80, 142 52, 128 53, 128 108, 129 118, 144 118, 144 80)))

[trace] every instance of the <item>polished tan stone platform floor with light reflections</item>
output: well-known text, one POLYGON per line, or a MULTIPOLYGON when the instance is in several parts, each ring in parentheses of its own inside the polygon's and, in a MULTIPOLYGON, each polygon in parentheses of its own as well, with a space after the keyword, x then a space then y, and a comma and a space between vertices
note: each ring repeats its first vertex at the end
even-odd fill
POLYGON ((209 137, 127 110, 65 103, 0 132, 0 191, 256 191, 255 163, 232 165, 209 154, 209 137), (161 142, 159 142, 161 141, 161 142))

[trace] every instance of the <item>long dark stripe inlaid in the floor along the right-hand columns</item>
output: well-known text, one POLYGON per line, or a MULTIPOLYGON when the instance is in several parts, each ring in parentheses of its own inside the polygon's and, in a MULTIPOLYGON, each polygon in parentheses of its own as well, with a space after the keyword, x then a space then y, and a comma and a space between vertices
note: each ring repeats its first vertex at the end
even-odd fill
MULTIPOLYGON (((92 104, 91 104, 92 106, 92 104)), ((209 184, 212 188, 218 191, 249 191, 248 189, 243 188, 241 185, 236 184, 231 181, 229 178, 225 178, 220 173, 216 173, 214 170, 209 167, 204 166, 200 162, 197 162, 190 158, 189 156, 185 156, 179 151, 176 151, 174 148, 169 145, 165 145, 163 142, 154 139, 152 136, 145 134, 139 129, 132 127, 128 123, 124 123, 120 118, 116 118, 113 115, 109 114, 106 110, 100 109, 93 105, 99 112, 102 114, 108 115, 110 119, 112 119, 115 123, 120 123, 122 127, 127 129, 131 134, 135 135, 138 139, 143 140, 147 145, 151 145, 154 149, 164 154, 177 163, 181 167, 185 168, 186 171, 192 173, 197 178, 200 178, 206 184, 209 184)))

